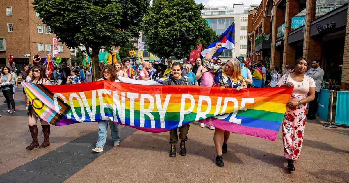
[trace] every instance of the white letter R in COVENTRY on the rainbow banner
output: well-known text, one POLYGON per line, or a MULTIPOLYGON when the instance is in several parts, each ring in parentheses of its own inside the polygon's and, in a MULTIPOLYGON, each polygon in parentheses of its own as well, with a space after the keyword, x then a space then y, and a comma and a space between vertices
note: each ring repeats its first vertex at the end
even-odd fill
POLYGON ((154 116, 153 114, 151 114, 150 112, 153 111, 154 109, 154 98, 153 96, 151 96, 150 94, 144 94, 141 93, 141 101, 140 101, 140 127, 144 127, 144 121, 145 121, 145 116, 147 115, 148 117, 150 117, 150 121, 151 121, 151 128, 155 128, 155 120, 154 120, 154 116), (145 99, 149 100, 149 107, 146 109, 144 108, 144 103, 145 99))

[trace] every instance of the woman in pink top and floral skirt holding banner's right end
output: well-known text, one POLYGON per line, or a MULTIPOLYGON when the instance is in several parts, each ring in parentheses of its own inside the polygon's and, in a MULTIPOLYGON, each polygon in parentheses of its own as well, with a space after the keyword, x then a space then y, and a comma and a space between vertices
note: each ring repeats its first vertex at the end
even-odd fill
POLYGON ((286 113, 282 120, 282 134, 284 157, 288 161, 287 168, 296 171, 294 161, 299 159, 300 150, 304 139, 304 124, 306 103, 314 100, 314 79, 304 75, 310 62, 301 57, 295 62, 295 72, 285 74, 280 78, 277 87, 293 87, 290 101, 286 104, 286 113))

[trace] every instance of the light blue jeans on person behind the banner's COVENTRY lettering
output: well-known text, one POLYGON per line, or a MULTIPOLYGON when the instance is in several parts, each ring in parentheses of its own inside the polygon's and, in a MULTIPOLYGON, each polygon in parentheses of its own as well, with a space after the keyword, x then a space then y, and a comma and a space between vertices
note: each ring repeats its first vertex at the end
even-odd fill
POLYGON ((96 143, 96 147, 102 147, 104 146, 106 140, 107 140, 107 128, 108 128, 108 122, 109 127, 111 131, 111 137, 114 142, 120 141, 120 134, 119 134, 119 124, 113 123, 110 120, 104 120, 98 122, 98 141, 96 143))

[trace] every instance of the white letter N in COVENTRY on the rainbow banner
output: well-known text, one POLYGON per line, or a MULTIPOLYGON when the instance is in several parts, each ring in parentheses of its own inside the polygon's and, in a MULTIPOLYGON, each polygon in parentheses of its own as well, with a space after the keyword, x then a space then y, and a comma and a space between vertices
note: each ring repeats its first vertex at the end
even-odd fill
POLYGON ((119 122, 118 117, 116 115, 116 110, 118 109, 118 116, 122 124, 125 123, 125 105, 126 105, 126 93, 121 92, 121 103, 119 99, 119 94, 117 91, 113 91, 113 117, 115 122, 119 122))

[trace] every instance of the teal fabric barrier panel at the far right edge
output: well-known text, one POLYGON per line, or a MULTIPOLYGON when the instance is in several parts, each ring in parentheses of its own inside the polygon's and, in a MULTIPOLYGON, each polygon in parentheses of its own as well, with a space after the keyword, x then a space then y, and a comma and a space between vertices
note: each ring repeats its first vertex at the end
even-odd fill
POLYGON ((335 123, 349 125, 349 91, 337 91, 335 123))

